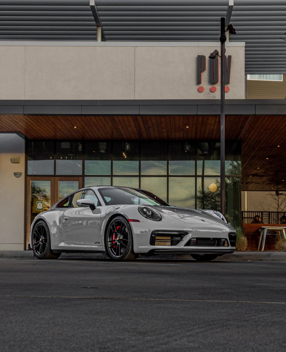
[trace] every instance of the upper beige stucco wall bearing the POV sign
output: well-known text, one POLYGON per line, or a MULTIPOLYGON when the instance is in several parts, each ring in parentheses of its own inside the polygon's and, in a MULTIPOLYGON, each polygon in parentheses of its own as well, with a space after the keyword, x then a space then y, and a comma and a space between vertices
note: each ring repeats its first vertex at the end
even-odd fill
MULTIPOLYGON (((219 43, 81 44, 0 42, 0 99, 220 98, 219 82, 215 93, 208 82, 208 56, 219 43), (206 56, 203 93, 196 84, 197 55, 206 56)), ((225 98, 244 99, 244 43, 226 43, 226 55, 232 63, 225 98)))

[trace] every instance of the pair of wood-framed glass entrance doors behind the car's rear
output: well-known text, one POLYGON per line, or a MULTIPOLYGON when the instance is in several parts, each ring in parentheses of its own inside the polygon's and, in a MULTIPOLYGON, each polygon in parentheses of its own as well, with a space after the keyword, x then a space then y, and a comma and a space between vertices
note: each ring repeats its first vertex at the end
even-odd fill
POLYGON ((36 216, 79 188, 82 188, 82 177, 27 177, 26 249, 29 249, 30 227, 36 216))

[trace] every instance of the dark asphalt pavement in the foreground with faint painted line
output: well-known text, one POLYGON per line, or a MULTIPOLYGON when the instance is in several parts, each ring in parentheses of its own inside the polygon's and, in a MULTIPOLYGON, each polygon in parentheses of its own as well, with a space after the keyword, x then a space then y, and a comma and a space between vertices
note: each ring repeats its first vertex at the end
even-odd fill
POLYGON ((0 259, 0 351, 283 351, 285 262, 0 259))

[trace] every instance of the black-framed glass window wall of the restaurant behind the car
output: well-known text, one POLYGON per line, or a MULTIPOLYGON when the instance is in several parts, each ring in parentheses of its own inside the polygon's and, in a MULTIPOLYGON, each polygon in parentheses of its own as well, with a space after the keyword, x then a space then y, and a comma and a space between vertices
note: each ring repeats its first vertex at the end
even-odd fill
MULTIPOLYGON (((78 175, 86 187, 142 188, 178 207, 220 208, 218 142, 29 141, 26 153, 28 175, 78 175)), ((240 142, 226 141, 225 160, 226 215, 239 223, 240 142)), ((66 186, 61 196, 68 192, 70 185, 66 186)))

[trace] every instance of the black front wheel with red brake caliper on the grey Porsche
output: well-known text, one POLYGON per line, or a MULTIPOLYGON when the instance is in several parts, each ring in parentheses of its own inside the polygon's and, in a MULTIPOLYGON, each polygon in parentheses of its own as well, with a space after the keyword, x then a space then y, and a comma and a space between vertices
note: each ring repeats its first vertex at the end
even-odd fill
POLYGON ((112 219, 107 226, 105 252, 110 259, 118 262, 137 258, 137 254, 133 251, 132 230, 129 222, 123 216, 112 219))

